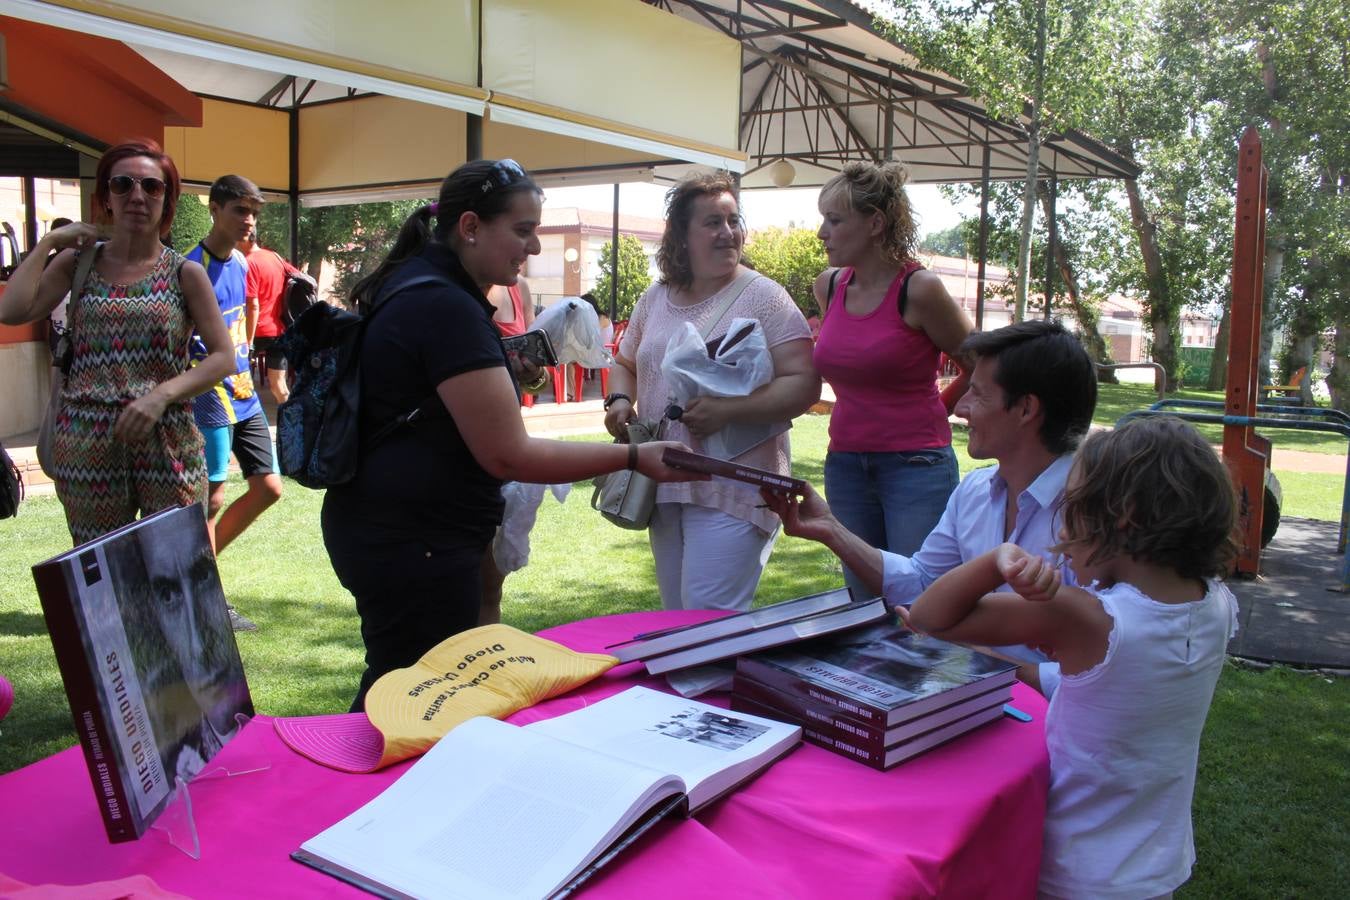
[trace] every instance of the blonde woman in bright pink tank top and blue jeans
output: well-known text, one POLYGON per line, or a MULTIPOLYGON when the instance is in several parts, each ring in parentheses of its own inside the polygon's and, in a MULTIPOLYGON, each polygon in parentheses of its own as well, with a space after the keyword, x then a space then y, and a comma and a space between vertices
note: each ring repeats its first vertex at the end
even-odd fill
MULTIPOLYGON (((836 398, 825 457, 830 509, 872 546, 913 556, 960 478, 937 370, 971 321, 914 259, 907 178, 898 162, 859 162, 821 189, 818 233, 832 269, 815 279, 814 363, 836 398)), ((853 572, 844 575, 871 595, 853 572)))

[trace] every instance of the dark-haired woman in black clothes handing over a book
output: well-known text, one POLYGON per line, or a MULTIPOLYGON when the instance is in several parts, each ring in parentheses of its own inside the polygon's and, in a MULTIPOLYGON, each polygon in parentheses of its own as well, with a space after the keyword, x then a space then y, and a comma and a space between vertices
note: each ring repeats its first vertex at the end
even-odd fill
POLYGON ((324 545, 356 599, 366 671, 352 710, 385 672, 478 623, 479 565, 502 518, 506 480, 576 482, 622 468, 657 480, 676 444, 576 444, 531 437, 508 364, 493 285, 539 252, 543 193, 510 159, 468 162, 404 223, 389 256, 352 289, 371 316, 362 345, 362 433, 418 416, 362 455, 324 497, 324 545))

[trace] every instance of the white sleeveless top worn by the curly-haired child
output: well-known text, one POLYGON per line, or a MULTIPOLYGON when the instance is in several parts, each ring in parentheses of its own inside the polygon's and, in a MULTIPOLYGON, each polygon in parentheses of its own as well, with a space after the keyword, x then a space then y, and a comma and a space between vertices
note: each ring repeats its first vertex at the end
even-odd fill
POLYGON ((1156 897, 1191 876, 1200 731, 1238 630, 1233 594, 1207 588, 1191 603, 1092 591, 1114 625, 1106 658, 1065 675, 1046 714, 1042 892, 1156 897))

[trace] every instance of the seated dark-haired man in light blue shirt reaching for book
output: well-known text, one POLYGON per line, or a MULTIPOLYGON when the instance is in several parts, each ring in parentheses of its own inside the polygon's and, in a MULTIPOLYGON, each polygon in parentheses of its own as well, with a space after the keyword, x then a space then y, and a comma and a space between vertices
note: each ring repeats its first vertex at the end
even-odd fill
MULTIPOLYGON (((914 556, 868 545, 840 525, 814 491, 801 502, 765 495, 787 534, 825 544, 869 590, 898 606, 909 606, 940 576, 1003 541, 1049 556, 1060 540, 1057 514, 1073 451, 1096 407, 1092 359, 1058 322, 977 332, 960 352, 975 360, 971 389, 956 405, 956 414, 969 422, 967 452, 998 466, 967 475, 914 556)), ((1061 564, 1060 571, 1072 584, 1069 567, 1061 564)), ((1046 658, 1029 648, 998 649, 1029 664, 1046 658)), ((1021 676, 1049 696, 1057 669, 1025 665, 1021 676)))

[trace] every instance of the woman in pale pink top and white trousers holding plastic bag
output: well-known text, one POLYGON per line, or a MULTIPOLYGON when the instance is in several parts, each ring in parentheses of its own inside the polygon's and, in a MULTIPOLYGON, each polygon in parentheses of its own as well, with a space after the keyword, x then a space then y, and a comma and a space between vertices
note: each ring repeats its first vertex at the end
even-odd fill
MULTIPOLYGON (((605 398, 605 428, 626 439, 629 421, 660 420, 670 402, 662 360, 671 336, 691 322, 707 341, 720 340, 733 318, 755 318, 764 328, 774 379, 747 397, 699 397, 666 437, 690 443, 729 422, 790 421, 819 399, 821 379, 811 366, 811 332, 792 298, 776 282, 738 278, 745 228, 734 185, 725 174, 695 175, 666 196, 666 233, 656 264, 660 279, 637 301, 620 340, 605 398), (729 309, 728 291, 738 290, 729 309), (718 317, 718 313, 722 313, 718 317), (713 320, 717 318, 714 322, 713 320)), ((791 471, 787 434, 772 437, 737 457, 780 474, 791 471)), ((763 507, 748 484, 713 479, 662 484, 649 526, 656 580, 666 609, 747 610, 778 533, 778 517, 763 507)))

